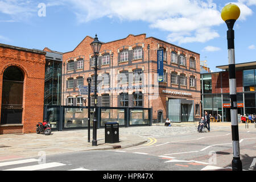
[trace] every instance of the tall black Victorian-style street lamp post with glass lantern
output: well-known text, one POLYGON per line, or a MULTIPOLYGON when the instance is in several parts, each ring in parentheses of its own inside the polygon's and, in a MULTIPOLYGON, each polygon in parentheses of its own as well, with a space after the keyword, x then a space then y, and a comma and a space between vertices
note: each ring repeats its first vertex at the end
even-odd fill
POLYGON ((93 140, 92 146, 97 146, 97 69, 98 69, 98 53, 100 52, 102 42, 98 41, 97 34, 90 46, 92 47, 95 57, 94 67, 94 117, 93 117, 93 140))

